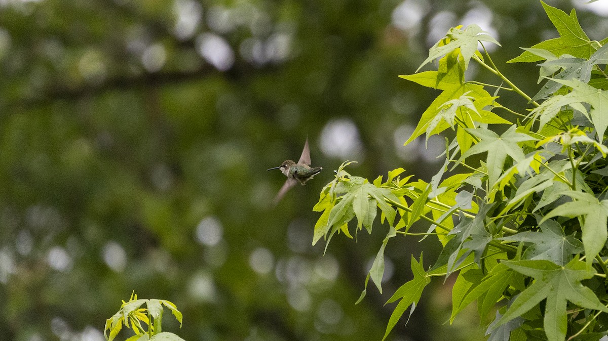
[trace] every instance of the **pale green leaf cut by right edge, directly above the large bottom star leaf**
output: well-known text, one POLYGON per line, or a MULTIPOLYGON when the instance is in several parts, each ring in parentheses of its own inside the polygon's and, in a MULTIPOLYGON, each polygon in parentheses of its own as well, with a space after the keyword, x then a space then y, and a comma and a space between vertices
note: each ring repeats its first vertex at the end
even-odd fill
POLYGON ((575 201, 561 204, 542 218, 541 223, 558 215, 562 217, 582 217, 582 243, 584 244, 587 263, 590 264, 604 247, 608 238, 606 220, 608 219, 608 199, 599 201, 593 195, 584 192, 566 191, 563 193, 575 201))

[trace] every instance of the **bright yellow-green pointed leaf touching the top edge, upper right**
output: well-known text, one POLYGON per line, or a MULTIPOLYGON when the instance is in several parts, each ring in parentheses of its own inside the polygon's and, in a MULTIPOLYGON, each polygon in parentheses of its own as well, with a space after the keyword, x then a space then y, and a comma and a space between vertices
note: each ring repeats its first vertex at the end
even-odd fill
MULTIPOLYGON (((562 10, 551 7, 545 2, 541 1, 541 4, 555 28, 558 29, 560 36, 559 38, 539 42, 533 48, 547 50, 556 56, 567 53, 578 58, 589 58, 596 50, 595 44, 583 32, 578 19, 576 19, 576 11, 572 10, 568 16, 562 10)), ((525 51, 508 62, 535 62, 541 59, 541 57, 525 51)))

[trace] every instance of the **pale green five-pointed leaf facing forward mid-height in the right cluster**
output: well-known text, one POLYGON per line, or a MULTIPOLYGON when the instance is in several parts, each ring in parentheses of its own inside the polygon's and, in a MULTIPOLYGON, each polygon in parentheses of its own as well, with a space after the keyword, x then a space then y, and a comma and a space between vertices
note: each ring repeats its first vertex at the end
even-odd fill
POLYGON ((490 186, 494 186, 496 180, 498 180, 500 174, 502 173, 506 155, 509 155, 516 162, 523 161, 525 159, 525 155, 517 143, 522 141, 536 140, 530 135, 516 132, 515 126, 511 126, 500 136, 491 130, 483 128, 467 129, 467 131, 479 138, 480 141, 469 148, 469 150, 467 150, 458 161, 465 160, 465 158, 468 158, 471 155, 488 152, 486 163, 488 164, 488 178, 490 186))

